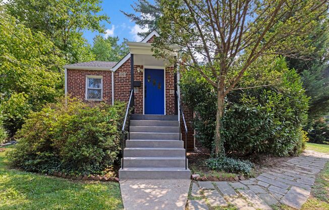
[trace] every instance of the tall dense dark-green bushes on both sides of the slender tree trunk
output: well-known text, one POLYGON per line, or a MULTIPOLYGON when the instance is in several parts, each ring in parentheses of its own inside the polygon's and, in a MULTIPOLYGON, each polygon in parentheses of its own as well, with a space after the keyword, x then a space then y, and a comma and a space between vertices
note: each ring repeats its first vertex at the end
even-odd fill
MULTIPOLYGON (((181 82, 183 100, 194 108, 196 138, 212 149, 216 93, 195 72, 181 82)), ((227 153, 287 156, 301 152, 308 98, 299 75, 283 70, 279 85, 232 91, 226 98, 222 137, 227 153)))

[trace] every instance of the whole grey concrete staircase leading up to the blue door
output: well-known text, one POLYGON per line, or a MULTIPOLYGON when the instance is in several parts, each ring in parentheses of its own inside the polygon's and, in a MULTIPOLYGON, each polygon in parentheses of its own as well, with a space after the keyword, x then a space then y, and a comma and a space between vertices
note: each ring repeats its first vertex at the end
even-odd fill
POLYGON ((177 115, 131 115, 123 179, 190 179, 177 115))

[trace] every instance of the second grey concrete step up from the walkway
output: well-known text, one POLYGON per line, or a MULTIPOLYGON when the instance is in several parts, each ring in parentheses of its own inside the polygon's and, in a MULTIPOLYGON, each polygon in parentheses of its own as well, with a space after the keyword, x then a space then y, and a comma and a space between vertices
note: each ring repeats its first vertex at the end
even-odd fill
POLYGON ((141 156, 125 157, 124 167, 155 168, 155 167, 185 167, 185 156, 141 156))

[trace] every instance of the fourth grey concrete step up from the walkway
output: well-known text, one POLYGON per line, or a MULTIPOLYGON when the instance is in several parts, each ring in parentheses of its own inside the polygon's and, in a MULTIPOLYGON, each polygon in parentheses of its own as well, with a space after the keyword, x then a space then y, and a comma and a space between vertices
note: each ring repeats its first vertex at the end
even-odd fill
POLYGON ((126 147, 172 147, 183 148, 184 142, 180 140, 148 140, 134 139, 127 140, 126 147))

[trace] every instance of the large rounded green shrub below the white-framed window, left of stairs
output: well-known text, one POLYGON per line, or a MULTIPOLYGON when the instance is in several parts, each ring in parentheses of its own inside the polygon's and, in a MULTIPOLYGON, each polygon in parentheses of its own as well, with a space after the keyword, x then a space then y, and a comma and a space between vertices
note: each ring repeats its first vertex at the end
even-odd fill
POLYGON ((67 98, 33 113, 17 132, 12 163, 26 171, 99 174, 120 151, 123 104, 67 98))

